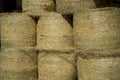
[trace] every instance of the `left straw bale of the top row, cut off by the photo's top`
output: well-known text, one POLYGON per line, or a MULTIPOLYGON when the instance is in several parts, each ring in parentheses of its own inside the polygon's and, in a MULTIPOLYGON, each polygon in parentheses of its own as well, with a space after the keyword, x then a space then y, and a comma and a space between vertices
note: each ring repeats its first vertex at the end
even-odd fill
POLYGON ((40 16, 47 11, 55 11, 54 0, 22 0, 22 11, 32 16, 40 16))

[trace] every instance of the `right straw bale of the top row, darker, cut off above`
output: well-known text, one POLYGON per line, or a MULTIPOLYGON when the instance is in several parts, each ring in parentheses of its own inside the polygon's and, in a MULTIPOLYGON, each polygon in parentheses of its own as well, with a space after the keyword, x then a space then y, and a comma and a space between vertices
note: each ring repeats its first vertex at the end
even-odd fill
POLYGON ((96 8, 94 0, 56 0, 56 10, 61 14, 73 14, 79 10, 96 8))

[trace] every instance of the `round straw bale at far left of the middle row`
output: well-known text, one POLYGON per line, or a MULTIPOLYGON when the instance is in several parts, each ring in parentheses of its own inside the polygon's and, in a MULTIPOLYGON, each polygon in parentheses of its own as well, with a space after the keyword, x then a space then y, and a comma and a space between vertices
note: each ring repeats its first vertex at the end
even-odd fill
POLYGON ((1 21, 2 47, 30 47, 36 45, 36 24, 22 13, 3 13, 1 21))

